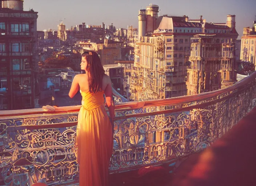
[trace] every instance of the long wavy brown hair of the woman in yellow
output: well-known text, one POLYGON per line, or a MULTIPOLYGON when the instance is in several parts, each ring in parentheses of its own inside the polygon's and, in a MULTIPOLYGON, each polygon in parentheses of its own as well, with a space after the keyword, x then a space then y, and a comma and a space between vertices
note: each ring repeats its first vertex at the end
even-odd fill
POLYGON ((105 70, 103 69, 99 55, 94 51, 88 50, 82 54, 82 57, 85 57, 87 60, 86 70, 89 73, 89 91, 93 93, 102 91, 102 79, 105 70))

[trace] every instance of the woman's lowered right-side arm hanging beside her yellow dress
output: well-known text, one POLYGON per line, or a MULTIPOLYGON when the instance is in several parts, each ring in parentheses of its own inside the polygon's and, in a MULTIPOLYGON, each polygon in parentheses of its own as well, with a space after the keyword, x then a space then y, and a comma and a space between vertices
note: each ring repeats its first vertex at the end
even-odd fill
POLYGON ((110 120, 114 129, 115 103, 112 97, 112 83, 108 76, 107 87, 105 88, 106 103, 109 110, 110 120))

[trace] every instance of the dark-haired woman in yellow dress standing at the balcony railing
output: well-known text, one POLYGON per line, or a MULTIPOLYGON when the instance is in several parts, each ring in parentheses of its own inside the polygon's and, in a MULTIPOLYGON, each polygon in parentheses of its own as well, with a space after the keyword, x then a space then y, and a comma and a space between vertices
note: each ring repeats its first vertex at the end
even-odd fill
POLYGON ((107 186, 115 114, 112 83, 96 52, 84 52, 80 65, 85 74, 74 77, 68 94, 72 98, 80 89, 82 95, 76 136, 79 185, 107 186), (110 119, 104 107, 104 94, 110 119))

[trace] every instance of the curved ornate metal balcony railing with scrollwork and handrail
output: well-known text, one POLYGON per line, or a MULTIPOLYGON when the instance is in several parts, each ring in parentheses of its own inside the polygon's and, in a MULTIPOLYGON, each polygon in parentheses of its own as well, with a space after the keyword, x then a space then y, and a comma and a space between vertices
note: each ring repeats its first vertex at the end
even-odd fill
MULTIPOLYGON (((116 105, 111 173, 175 161, 211 145, 255 105, 256 72, 213 92, 116 105)), ((0 185, 77 180, 81 106, 0 112, 0 185)))

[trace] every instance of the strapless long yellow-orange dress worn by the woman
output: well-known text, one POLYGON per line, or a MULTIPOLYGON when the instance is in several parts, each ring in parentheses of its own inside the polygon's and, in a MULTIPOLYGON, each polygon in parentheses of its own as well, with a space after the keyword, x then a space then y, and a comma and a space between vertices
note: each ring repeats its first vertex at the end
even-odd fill
POLYGON ((107 186, 113 130, 104 107, 104 92, 82 92, 76 148, 79 186, 107 186))

